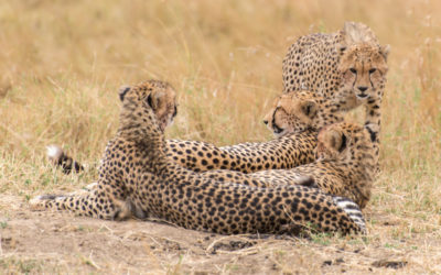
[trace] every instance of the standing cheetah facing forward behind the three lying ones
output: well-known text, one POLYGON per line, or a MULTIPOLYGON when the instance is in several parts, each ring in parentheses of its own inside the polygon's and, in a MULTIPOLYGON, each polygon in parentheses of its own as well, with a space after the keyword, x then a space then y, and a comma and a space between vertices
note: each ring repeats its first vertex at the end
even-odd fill
POLYGON ((388 53, 389 46, 379 45, 362 23, 346 22, 335 33, 301 36, 283 59, 283 90, 312 90, 340 111, 364 105, 377 163, 388 53))

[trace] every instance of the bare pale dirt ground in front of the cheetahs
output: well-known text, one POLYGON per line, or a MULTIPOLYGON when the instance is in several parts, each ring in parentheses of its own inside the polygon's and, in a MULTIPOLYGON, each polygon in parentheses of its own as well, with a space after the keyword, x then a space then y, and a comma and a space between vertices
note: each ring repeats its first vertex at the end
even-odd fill
MULTIPOLYGON (((34 212, 22 198, 7 195, 0 196, 0 222, 2 274, 441 272, 440 240, 431 240, 422 252, 413 246, 424 245, 417 238, 413 244, 407 240, 406 246, 385 245, 375 240, 375 233, 367 238, 227 237, 158 221, 115 222, 34 212)), ((385 217, 377 222, 376 227, 387 228, 398 221, 385 217)))

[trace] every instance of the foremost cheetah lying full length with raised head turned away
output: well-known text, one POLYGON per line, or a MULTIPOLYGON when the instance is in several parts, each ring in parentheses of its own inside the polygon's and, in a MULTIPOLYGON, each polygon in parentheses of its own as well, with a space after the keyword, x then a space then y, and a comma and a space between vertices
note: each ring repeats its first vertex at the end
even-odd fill
POLYGON ((365 232, 359 208, 347 198, 304 186, 220 182, 176 165, 165 155, 150 91, 135 87, 120 98, 120 127, 106 147, 96 188, 36 197, 30 202, 33 209, 115 220, 154 217, 226 234, 294 233, 309 224, 321 231, 365 232))

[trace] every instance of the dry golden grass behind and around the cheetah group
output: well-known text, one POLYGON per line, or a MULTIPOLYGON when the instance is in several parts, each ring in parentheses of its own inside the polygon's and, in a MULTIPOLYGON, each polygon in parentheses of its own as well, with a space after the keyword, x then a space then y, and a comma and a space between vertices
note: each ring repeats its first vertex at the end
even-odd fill
MULTIPOLYGON (((385 255, 407 261, 404 272, 440 273, 437 0, 1 1, 0 193, 25 200, 96 178, 94 164, 117 128, 117 88, 147 78, 169 80, 179 90, 180 111, 168 136, 219 145, 267 140, 271 134, 261 118, 281 91, 281 61, 288 46, 302 34, 338 30, 346 20, 366 23, 381 43, 391 45, 383 173, 366 210, 369 234, 355 240, 319 235, 283 246, 280 253, 279 244, 256 248, 277 263, 278 272, 326 272, 316 257, 342 246, 362 246, 362 256, 344 254, 346 271, 377 268, 372 263, 385 255), (50 143, 62 144, 92 164, 88 172, 67 177, 49 167, 44 146, 50 143)), ((13 220, 14 211, 0 210, 1 222, 13 220)), ((232 258, 213 260, 223 266, 213 271, 234 272, 236 267, 226 267, 232 264, 241 271, 240 261, 232 258)), ((1 258, 0 246, 0 270, 52 268, 42 261, 20 254, 1 258)), ((187 256, 180 261, 174 270, 159 270, 194 271, 189 270, 187 256)), ((76 261, 72 271, 88 272, 93 265, 76 261)), ((57 268, 53 271, 67 271, 57 268)))

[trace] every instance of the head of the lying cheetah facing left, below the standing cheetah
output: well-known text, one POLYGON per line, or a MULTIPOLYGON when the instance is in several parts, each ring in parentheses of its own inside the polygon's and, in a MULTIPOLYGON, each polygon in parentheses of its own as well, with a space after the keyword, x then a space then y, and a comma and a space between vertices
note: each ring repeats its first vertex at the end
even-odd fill
POLYGON ((302 132, 315 128, 319 106, 306 92, 291 91, 275 99, 273 107, 265 116, 263 123, 275 136, 302 132))

